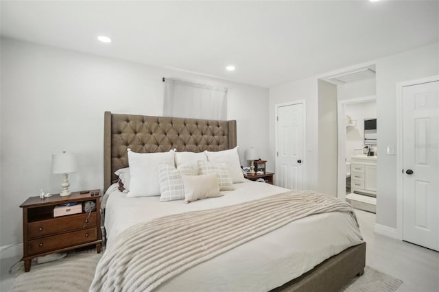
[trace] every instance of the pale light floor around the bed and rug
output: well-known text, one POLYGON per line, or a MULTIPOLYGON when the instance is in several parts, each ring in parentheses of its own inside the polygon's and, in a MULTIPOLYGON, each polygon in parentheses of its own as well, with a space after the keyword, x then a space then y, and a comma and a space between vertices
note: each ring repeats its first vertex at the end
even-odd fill
MULTIPOLYGON (((403 280, 399 292, 439 291, 439 252, 375 234, 375 214, 355 212, 367 244, 366 265, 403 280)), ((8 269, 19 258, 11 256, 1 260, 0 291, 9 291, 12 287, 14 276, 8 269)))

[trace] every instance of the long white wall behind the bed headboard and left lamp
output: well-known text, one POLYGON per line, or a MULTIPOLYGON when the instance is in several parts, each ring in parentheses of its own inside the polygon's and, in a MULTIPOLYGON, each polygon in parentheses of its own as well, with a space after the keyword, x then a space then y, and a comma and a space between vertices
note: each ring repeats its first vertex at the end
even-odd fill
MULTIPOLYGON (((71 190, 103 187, 104 111, 161 115, 162 77, 228 88, 239 154, 268 157, 268 89, 1 38, 1 241, 22 241, 19 205, 40 188, 59 193, 51 154, 78 154, 71 190)), ((241 163, 247 163, 241 159, 241 163)))

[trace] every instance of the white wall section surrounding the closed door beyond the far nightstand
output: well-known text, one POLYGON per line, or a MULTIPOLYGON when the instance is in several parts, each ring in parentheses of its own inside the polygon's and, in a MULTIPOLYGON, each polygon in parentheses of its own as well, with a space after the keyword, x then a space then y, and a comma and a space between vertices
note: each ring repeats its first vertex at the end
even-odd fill
POLYGON ((274 154, 275 149, 275 116, 276 105, 285 104, 289 101, 296 101, 304 99, 306 101, 306 148, 305 157, 302 159, 305 173, 305 189, 317 189, 317 135, 318 135, 318 93, 317 93, 317 79, 308 78, 298 80, 288 84, 274 86, 270 88, 270 99, 268 102, 268 125, 269 125, 269 162, 267 167, 270 171, 274 171, 274 154))

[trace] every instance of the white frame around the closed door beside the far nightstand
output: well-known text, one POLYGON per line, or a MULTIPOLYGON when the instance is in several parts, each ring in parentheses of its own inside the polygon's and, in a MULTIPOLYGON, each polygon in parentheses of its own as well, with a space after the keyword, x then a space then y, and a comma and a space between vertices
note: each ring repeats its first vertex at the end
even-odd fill
MULTIPOLYGON (((306 175, 306 151, 305 151, 305 145, 307 144, 307 101, 305 99, 298 99, 298 100, 294 100, 294 101, 288 101, 285 102, 283 104, 275 104, 274 105, 274 112, 276 113, 274 115, 274 151, 276 153, 274 153, 274 163, 275 163, 275 168, 274 171, 277 173, 278 169, 278 156, 277 156, 277 152, 278 152, 278 145, 277 145, 277 137, 278 137, 278 108, 281 108, 282 106, 294 106, 296 104, 302 104, 302 125, 303 125, 303 141, 302 141, 302 188, 305 189, 305 182, 307 181, 307 175, 306 175)), ((274 175, 274 184, 276 184, 276 186, 278 186, 278 180, 279 180, 279 175, 274 175)))

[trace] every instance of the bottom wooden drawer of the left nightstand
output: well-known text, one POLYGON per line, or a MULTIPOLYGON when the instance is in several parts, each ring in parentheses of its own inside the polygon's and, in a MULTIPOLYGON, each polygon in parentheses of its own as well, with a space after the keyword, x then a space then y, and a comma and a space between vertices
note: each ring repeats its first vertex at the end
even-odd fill
POLYGON ((47 236, 41 239, 28 241, 27 252, 30 255, 41 254, 43 252, 50 252, 51 250, 60 249, 62 247, 69 247, 72 245, 86 243, 88 241, 95 241, 96 239, 96 228, 89 228, 86 230, 47 236))

